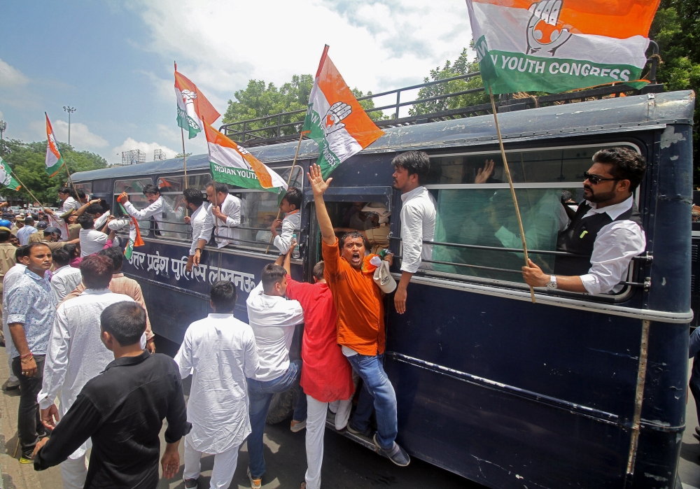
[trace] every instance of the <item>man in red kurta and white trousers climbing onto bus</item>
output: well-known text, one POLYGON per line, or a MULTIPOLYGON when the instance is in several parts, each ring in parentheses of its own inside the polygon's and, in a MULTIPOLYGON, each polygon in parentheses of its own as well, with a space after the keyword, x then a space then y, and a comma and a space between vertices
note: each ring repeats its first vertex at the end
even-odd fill
MULTIPOLYGON (((295 245, 292 241, 291 246, 295 245)), ((293 248, 283 257, 287 272, 287 297, 300 302, 304 310, 302 339, 302 376, 300 385, 307 397, 306 423, 307 472, 302 489, 321 488, 323 433, 328 404, 335 406, 335 429, 346 427, 352 408, 355 385, 350 367, 338 345, 337 320, 333 295, 323 277, 324 264, 314 266, 314 283, 292 279, 290 258, 293 248)), ((276 263, 282 261, 279 257, 276 263)), ((333 409, 331 409, 333 411, 333 409)), ((292 421, 294 423, 294 421, 292 421)))

